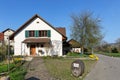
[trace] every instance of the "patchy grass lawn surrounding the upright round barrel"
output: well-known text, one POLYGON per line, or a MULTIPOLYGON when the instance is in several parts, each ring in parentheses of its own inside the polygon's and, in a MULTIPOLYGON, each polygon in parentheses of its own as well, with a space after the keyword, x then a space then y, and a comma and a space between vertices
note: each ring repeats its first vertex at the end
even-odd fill
POLYGON ((94 66, 96 61, 93 60, 84 60, 85 63, 85 72, 81 78, 76 78, 71 74, 71 63, 75 59, 66 59, 66 58, 44 58, 45 65, 50 72, 50 74, 58 78, 60 80, 83 80, 88 72, 90 72, 91 68, 94 66))

